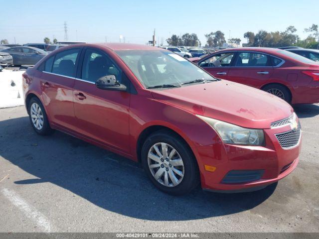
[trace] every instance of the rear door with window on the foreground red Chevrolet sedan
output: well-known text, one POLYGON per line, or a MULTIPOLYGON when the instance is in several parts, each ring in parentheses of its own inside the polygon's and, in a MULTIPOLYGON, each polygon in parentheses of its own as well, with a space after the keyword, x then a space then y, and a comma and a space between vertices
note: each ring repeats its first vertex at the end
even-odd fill
POLYGON ((73 86, 80 51, 81 48, 72 48, 49 57, 40 81, 49 118, 69 129, 75 129, 73 86))

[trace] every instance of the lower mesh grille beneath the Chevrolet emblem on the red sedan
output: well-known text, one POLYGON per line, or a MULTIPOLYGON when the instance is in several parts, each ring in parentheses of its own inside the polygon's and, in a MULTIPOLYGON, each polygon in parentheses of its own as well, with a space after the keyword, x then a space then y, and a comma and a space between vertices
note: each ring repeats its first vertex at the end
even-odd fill
POLYGON ((298 145, 300 137, 301 137, 301 125, 298 122, 297 128, 294 128, 290 131, 284 133, 275 134, 278 139, 280 145, 284 149, 292 148, 298 145))

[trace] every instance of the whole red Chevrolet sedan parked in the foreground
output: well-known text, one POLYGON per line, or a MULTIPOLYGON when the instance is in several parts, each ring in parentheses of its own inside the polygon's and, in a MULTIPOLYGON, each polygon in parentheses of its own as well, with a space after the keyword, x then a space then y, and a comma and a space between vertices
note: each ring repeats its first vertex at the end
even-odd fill
POLYGON ((166 193, 199 182, 212 191, 257 190, 298 163, 301 126, 289 104, 161 48, 63 47, 28 68, 23 88, 37 133, 61 130, 140 161, 166 193))

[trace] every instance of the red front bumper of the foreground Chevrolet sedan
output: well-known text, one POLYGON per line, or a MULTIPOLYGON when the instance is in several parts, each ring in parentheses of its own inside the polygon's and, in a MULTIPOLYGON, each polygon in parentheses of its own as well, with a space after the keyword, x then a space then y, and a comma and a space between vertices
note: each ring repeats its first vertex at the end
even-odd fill
MULTIPOLYGON (((197 147, 195 151, 200 169, 201 186, 208 191, 255 191, 275 183, 290 174, 299 161, 301 139, 299 143, 289 149, 281 147, 275 134, 288 131, 290 126, 277 129, 265 129, 265 146, 242 146, 224 144, 197 147), (206 171, 204 165, 216 168, 214 172, 206 171), (230 172, 245 172, 251 170, 251 181, 231 181, 230 172), (253 179, 256 175, 260 177, 253 179), (227 179, 227 180, 225 180, 227 179)), ((237 174, 237 176, 241 176, 237 174)), ((247 178, 249 178, 247 176, 247 178)), ((233 177, 236 179, 236 177, 233 177)), ((240 177, 239 177, 240 178, 240 177)), ((243 180, 245 181, 245 180, 243 180)))

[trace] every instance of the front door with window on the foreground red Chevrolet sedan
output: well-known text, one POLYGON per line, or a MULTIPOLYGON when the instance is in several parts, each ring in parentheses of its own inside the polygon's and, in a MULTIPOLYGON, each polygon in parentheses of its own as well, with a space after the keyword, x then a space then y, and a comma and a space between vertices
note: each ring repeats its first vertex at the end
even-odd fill
POLYGON ((77 131, 115 149, 129 152, 130 94, 101 90, 95 86, 99 78, 107 75, 114 75, 121 83, 121 69, 106 53, 87 48, 79 72, 73 91, 77 131))

